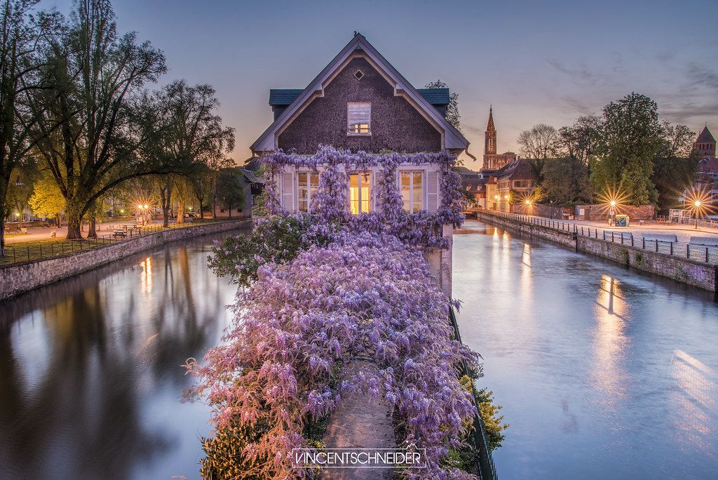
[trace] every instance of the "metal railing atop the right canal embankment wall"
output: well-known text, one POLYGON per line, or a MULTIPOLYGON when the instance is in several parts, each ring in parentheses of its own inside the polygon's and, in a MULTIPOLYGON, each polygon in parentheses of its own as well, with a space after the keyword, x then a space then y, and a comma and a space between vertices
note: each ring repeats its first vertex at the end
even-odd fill
POLYGON ((520 213, 507 213, 501 211, 482 211, 482 213, 498 216, 500 218, 507 218, 509 220, 521 221, 523 223, 531 223, 532 225, 544 226, 547 229, 561 231, 567 234, 588 236, 592 239, 602 239, 612 243, 630 245, 634 248, 656 251, 673 257, 682 257, 697 260, 698 262, 718 264, 718 246, 696 245, 658 239, 645 239, 643 237, 636 239, 630 231, 605 230, 597 227, 577 225, 576 223, 567 221, 553 220, 551 218, 521 215, 520 213))

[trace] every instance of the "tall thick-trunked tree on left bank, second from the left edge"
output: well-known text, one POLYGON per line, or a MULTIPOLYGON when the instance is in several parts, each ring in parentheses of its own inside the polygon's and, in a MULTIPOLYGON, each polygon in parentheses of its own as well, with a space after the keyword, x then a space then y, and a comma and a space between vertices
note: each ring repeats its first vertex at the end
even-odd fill
POLYGON ((104 193, 128 179, 171 170, 138 156, 162 131, 141 128, 130 108, 141 86, 167 69, 149 42, 138 43, 134 32, 117 33, 108 0, 76 2, 46 63, 53 86, 32 99, 40 118, 37 152, 65 198, 67 238, 79 239, 81 219, 104 193))

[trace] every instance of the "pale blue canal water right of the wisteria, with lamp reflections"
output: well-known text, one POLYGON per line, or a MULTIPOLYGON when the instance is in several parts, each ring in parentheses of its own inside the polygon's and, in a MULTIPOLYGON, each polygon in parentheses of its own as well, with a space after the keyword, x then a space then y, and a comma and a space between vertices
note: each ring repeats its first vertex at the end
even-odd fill
POLYGON ((500 479, 718 478, 712 293, 476 221, 453 285, 510 424, 500 479))

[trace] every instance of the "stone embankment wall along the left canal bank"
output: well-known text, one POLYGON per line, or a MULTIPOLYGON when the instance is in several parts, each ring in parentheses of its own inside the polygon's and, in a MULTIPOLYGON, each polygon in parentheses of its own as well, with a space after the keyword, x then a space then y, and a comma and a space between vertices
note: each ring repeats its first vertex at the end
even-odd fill
POLYGON ((242 219, 167 229, 113 244, 95 246, 92 249, 73 254, 3 265, 0 267, 0 300, 87 272, 103 264, 167 244, 170 241, 217 234, 249 225, 251 225, 251 220, 242 219))

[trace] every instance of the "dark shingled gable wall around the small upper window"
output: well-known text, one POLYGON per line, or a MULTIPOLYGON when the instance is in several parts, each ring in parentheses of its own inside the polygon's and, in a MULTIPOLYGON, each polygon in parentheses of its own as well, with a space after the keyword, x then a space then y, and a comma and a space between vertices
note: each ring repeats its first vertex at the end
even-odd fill
POLYGON ((438 152, 441 134, 363 57, 350 60, 297 118, 279 134, 279 148, 312 154, 322 145, 378 153, 438 152), (364 74, 359 80, 357 70, 364 74), (371 102, 371 134, 347 135, 347 102, 371 102))

